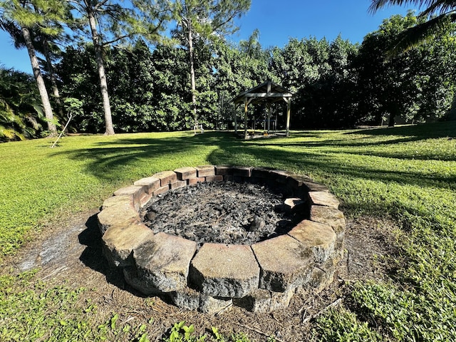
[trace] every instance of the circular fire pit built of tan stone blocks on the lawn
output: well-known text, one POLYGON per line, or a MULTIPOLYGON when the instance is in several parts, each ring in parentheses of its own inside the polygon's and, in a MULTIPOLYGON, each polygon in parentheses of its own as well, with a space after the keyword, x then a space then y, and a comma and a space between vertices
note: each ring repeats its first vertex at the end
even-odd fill
MULTIPOLYGON (((210 202, 217 204, 217 196, 210 202)), ((142 294, 166 295, 182 309, 202 312, 217 312, 231 304, 269 312, 286 308, 296 292, 318 293, 333 281, 345 233, 345 219, 338 205, 324 185, 309 177, 264 167, 204 165, 158 172, 117 190, 103 202, 98 224, 109 264, 123 269, 125 281, 142 294), (229 184, 247 186, 252 192, 276 190, 281 203, 274 208, 281 207, 279 211, 285 217, 276 222, 277 229, 261 232, 254 241, 192 241, 182 231, 181 226, 186 224, 182 217, 185 211, 191 212, 189 206, 197 210, 198 205, 184 199, 184 205, 167 213, 167 219, 180 215, 181 220, 165 224, 164 231, 156 229, 157 213, 150 204, 159 204, 157 198, 173 190, 177 195, 171 198, 178 201, 183 199, 179 194, 192 192, 198 183, 205 182, 219 184, 221 190, 217 191, 222 192, 229 184), (144 221, 151 217, 151 222, 144 221)), ((245 209, 244 204, 237 207, 244 215, 246 231, 237 235, 248 236, 266 226, 258 209, 245 209)), ((211 222, 202 222, 205 229, 223 230, 228 225, 221 222, 227 209, 217 210, 217 214, 208 214, 211 222)))

